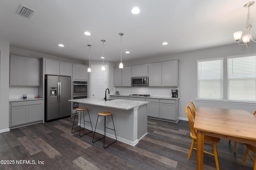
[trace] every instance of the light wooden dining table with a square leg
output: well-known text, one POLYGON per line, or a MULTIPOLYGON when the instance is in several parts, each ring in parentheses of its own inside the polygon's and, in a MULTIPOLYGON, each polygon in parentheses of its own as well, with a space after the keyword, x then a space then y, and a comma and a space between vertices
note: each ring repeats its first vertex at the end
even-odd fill
POLYGON ((256 145, 256 116, 245 110, 196 107, 194 129, 198 170, 203 169, 204 135, 256 145))

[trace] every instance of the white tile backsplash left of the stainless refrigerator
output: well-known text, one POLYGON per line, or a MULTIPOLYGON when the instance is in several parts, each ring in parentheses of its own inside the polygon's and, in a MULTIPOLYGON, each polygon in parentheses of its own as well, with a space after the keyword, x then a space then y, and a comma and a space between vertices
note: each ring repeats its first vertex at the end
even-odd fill
POLYGON ((23 98, 23 94, 26 94, 27 98, 35 98, 38 96, 38 87, 9 86, 9 99, 23 98))

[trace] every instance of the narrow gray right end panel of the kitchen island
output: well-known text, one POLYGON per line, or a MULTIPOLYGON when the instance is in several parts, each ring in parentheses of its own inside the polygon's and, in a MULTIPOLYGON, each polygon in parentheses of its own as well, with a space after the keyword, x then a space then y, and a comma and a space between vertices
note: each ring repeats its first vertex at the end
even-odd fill
POLYGON ((147 105, 138 108, 138 140, 148 134, 147 105))

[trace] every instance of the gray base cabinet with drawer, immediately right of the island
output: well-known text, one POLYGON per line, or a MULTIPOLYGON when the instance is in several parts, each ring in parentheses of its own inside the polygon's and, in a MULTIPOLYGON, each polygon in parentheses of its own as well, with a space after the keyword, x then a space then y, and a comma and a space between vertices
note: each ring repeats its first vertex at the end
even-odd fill
POLYGON ((159 118, 159 99, 146 98, 146 102, 150 102, 147 104, 147 115, 159 118))

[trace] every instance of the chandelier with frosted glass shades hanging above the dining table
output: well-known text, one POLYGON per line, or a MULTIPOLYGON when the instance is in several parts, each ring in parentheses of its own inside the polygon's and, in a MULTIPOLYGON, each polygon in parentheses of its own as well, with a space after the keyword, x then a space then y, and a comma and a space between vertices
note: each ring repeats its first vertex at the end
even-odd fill
POLYGON ((234 32, 234 39, 237 41, 239 45, 246 45, 246 47, 249 47, 250 40, 253 42, 256 42, 252 39, 252 24, 251 24, 251 18, 250 18, 250 6, 254 4, 254 1, 248 2, 247 4, 244 5, 244 7, 248 7, 248 14, 247 14, 247 19, 246 19, 246 25, 245 29, 247 30, 247 35, 244 35, 242 37, 242 31, 237 31, 234 32), (239 40, 243 40, 243 43, 239 43, 239 40))

